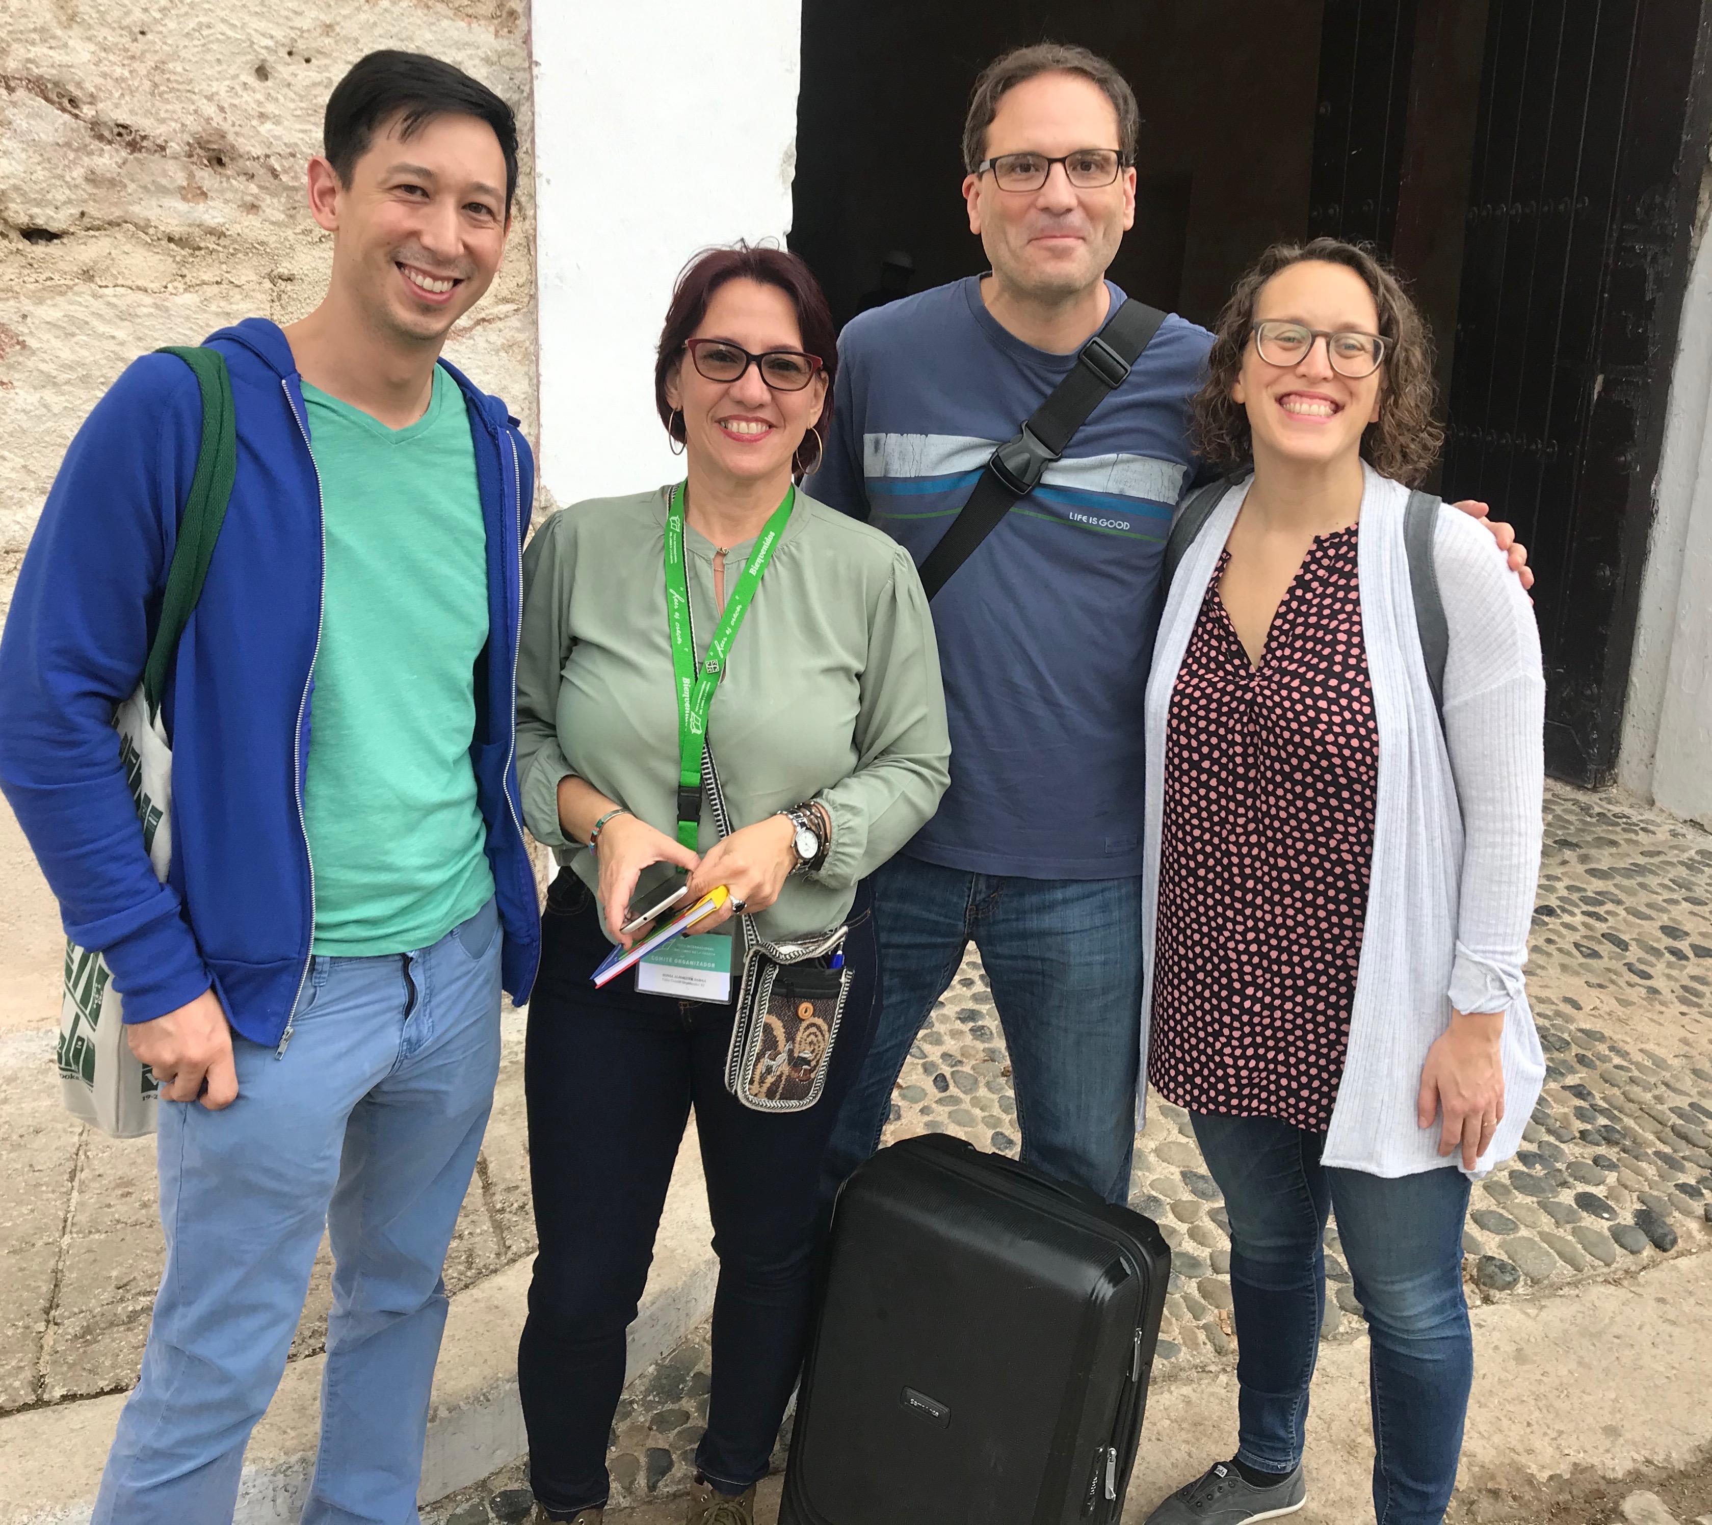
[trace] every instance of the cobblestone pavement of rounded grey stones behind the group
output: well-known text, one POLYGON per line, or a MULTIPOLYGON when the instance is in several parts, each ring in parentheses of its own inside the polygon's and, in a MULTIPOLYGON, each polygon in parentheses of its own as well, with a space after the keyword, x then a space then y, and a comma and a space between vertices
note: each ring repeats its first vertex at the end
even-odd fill
MULTIPOLYGON (((1471 1301, 1712 1248, 1712 835, 1616 792, 1548 786, 1527 976, 1546 1090, 1522 1152, 1474 1190, 1471 1301)), ((943 1131, 1014 1155, 1015 1116, 1003 1032, 971 953, 911 1051, 887 1142, 943 1131)), ((1130 1202, 1173 1251, 1156 1368, 1169 1381, 1234 1359, 1228 1222, 1185 1113, 1154 1097, 1135 1143, 1130 1202)), ((1323 1333, 1354 1338, 1361 1304, 1335 1224, 1325 1265, 1323 1333)), ((704 1325, 632 1385, 613 1429, 615 1506, 688 1487, 707 1374, 704 1325)), ((486 1525, 526 1499, 519 1463, 423 1520, 486 1525)))

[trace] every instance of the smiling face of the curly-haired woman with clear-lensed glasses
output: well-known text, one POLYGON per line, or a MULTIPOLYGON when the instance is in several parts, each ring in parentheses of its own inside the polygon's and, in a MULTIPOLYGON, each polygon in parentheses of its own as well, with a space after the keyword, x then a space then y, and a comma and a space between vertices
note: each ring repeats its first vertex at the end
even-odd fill
MULTIPOLYGON (((1373 293, 1347 265, 1301 260, 1279 270, 1255 298, 1253 320, 1284 318, 1308 329, 1378 334, 1373 293)), ((1265 455, 1327 466, 1361 454, 1361 435, 1380 416, 1385 366, 1351 380, 1332 370, 1323 339, 1291 366, 1269 365, 1253 335, 1231 397, 1248 411, 1257 462, 1265 455)))

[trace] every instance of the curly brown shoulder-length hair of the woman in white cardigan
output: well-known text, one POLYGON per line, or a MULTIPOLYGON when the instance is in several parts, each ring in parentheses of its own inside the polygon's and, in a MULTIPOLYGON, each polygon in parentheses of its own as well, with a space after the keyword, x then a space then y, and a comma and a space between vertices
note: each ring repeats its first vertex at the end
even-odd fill
POLYGON ((1207 380, 1192 404, 1202 457, 1226 471, 1253 459, 1248 411, 1231 397, 1231 389, 1243 371, 1260 289, 1279 270, 1303 260, 1344 265, 1373 293, 1385 365, 1380 370, 1380 416, 1363 431, 1361 454, 1380 474, 1418 486, 1445 443, 1445 431, 1433 421, 1433 335, 1397 274, 1370 246, 1340 238, 1274 243, 1236 282, 1214 329, 1207 380))

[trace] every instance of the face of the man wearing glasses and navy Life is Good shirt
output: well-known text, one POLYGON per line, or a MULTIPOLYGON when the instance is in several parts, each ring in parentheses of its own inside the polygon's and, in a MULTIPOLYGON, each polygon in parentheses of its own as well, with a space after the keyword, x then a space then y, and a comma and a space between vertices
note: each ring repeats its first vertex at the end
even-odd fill
MULTIPOLYGON (((986 130, 986 157, 1077 149, 1116 149, 1118 111, 1106 92, 1080 74, 1037 74, 1005 91, 986 130)), ((1072 298, 1106 276, 1123 233, 1135 223, 1135 169, 1111 185, 1077 190, 1055 164, 1032 192, 1000 190, 993 171, 964 180, 969 231, 993 274, 1008 288, 1046 301, 1072 298)))

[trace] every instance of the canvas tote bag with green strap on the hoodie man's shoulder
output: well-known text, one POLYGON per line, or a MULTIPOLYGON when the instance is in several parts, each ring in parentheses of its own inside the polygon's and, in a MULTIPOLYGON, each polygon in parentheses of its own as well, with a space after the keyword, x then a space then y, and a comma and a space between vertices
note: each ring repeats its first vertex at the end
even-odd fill
MULTIPOLYGON (((173 750, 161 724, 161 695, 178 654, 209 561, 226 519, 238 474, 238 426, 231 375, 214 349, 169 347, 197 375, 202 390, 202 443, 190 496, 178 525, 178 544, 166 573, 161 623, 149 647, 142 681, 113 715, 118 755, 137 806, 142 846, 164 883, 173 854, 173 750)), ((60 1000, 60 1094, 67 1109, 115 1138, 154 1131, 159 1087, 125 1042, 122 998, 99 948, 65 940, 65 993, 60 1000)))

